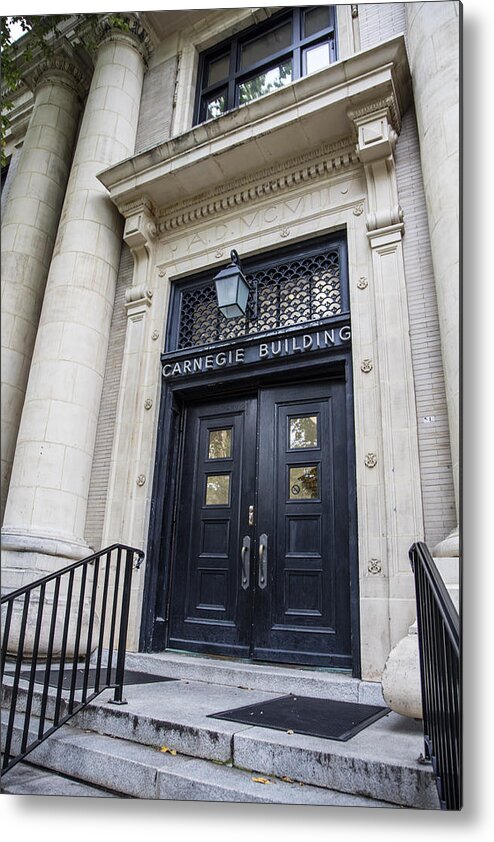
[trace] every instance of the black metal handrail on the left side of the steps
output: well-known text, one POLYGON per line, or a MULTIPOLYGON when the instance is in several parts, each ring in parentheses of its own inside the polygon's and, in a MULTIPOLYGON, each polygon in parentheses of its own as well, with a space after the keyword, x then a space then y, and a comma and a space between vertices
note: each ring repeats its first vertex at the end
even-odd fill
POLYGON ((2 774, 104 690, 114 688, 112 702, 125 704, 132 570, 143 558, 142 550, 113 544, 1 598, 1 680, 9 702, 2 774))

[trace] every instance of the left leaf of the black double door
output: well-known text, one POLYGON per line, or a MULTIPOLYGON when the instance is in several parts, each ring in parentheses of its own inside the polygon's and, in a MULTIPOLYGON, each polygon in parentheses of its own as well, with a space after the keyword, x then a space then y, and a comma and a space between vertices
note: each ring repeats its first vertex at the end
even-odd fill
POLYGON ((186 411, 169 645, 246 656, 241 530, 254 496, 256 400, 186 411))

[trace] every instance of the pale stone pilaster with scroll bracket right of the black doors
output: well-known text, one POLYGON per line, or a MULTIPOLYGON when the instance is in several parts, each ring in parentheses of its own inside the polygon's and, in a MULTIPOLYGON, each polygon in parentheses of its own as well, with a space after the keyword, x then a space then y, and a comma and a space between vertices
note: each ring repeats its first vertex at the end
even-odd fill
MULTIPOLYGON (((367 185, 367 237, 373 268, 377 359, 371 376, 380 383, 382 424, 373 462, 381 464, 383 524, 387 559, 383 564, 389 598, 389 640, 393 646, 414 617, 408 550, 422 540, 423 516, 413 369, 403 263, 404 225, 398 202, 394 147, 395 117, 386 103, 351 115, 357 152, 367 185)), ((396 127, 395 127, 396 126, 396 127)))

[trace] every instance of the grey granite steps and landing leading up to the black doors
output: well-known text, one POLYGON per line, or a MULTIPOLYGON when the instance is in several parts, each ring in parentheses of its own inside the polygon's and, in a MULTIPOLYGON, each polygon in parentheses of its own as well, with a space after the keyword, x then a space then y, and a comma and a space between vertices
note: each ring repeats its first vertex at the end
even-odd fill
MULTIPOLYGON (((127 666, 137 669, 138 662, 129 658, 127 666)), ((150 673, 164 674, 156 672, 157 664, 152 658, 139 661, 139 668, 144 666, 150 673)), ((247 689, 247 685, 242 684, 210 683, 197 680, 199 666, 188 666, 185 672, 190 676, 189 670, 192 670, 196 680, 177 676, 175 681, 127 685, 124 693, 127 704, 123 706, 109 703, 111 691, 102 693, 77 715, 73 725, 62 729, 60 734, 63 733, 65 742, 60 734, 55 734, 36 749, 39 755, 33 753, 33 757, 43 757, 43 765, 47 763, 49 768, 68 775, 86 769, 87 776, 82 779, 99 786, 108 787, 111 782, 112 788, 117 789, 116 781, 120 778, 125 780, 125 775, 128 775, 128 784, 119 791, 134 797, 180 798, 179 793, 193 790, 198 793, 198 798, 207 800, 236 800, 235 793, 238 800, 271 799, 273 785, 254 784, 252 772, 276 778, 275 802, 285 797, 282 784, 286 782, 281 779, 288 777, 298 783, 295 788, 293 784, 287 784, 291 796, 286 790, 286 797, 290 803, 306 803, 294 801, 294 792, 297 797, 305 797, 301 793, 306 793, 306 788, 313 788, 322 790, 328 799, 340 793, 347 800, 357 797, 385 802, 390 806, 438 808, 432 771, 417 761, 423 750, 421 723, 390 713, 351 740, 338 742, 209 718, 210 714, 221 710, 275 698, 285 694, 293 685, 289 675, 281 675, 284 670, 278 674, 275 690, 273 684, 270 685, 271 690, 264 690, 247 689), (285 686, 283 681, 288 684, 285 686), (50 745, 58 748, 50 749, 50 745), (161 753, 162 746, 172 749, 176 755, 161 753), (50 751, 54 754, 50 755, 50 751), (84 751, 88 752, 87 760, 84 760, 84 751), (101 768, 98 773, 97 758, 100 758, 98 764, 101 768), (62 763, 64 768, 61 768, 62 763), (121 769, 118 778, 116 771, 112 771, 114 764, 115 769, 121 769), (135 789, 132 789, 132 780, 137 781, 133 777, 133 764, 137 764, 141 781, 135 783, 135 789), (124 769, 127 771, 124 772, 124 769), (221 780, 216 778, 214 787, 209 791, 212 769, 215 773, 218 769, 227 769, 228 780, 225 772, 218 771, 218 776, 223 777, 221 780), (97 778, 94 777, 96 774, 97 778), (175 775, 178 776, 176 779, 175 775), (165 779, 169 779, 169 785, 165 779), (192 785, 194 780, 196 783, 192 785), (151 781, 154 783, 151 784, 151 781), (260 788, 262 792, 259 792, 260 788), (267 789, 269 792, 265 792, 267 789), (143 794, 153 791, 169 794, 143 794)), ((214 666, 216 680, 233 681, 233 678, 239 680, 242 676, 241 680, 250 684, 260 682, 263 686, 272 680, 271 668, 254 671, 253 675, 247 667, 237 670, 237 664, 233 667, 231 664, 225 667, 221 663, 214 666)), ((185 666, 177 662, 175 668, 183 671, 185 666)), ((302 681, 300 676, 304 671, 293 672, 302 681)), ((166 674, 171 677, 170 664, 166 674)), ((364 682, 359 683, 346 676, 316 674, 305 676, 304 694, 315 695, 317 683, 325 681, 333 689, 339 684, 345 693, 350 689, 352 693, 364 695, 375 692, 364 688, 364 682), (345 680, 340 681, 341 678, 345 680)), ((8 694, 8 688, 5 692, 8 694)), ((297 692, 300 693, 300 687, 297 687, 297 692)), ((369 699, 366 701, 369 702, 369 699)), ((36 697, 34 702, 33 712, 36 713, 39 699, 36 697)), ((375 699, 369 703, 374 702, 375 699)), ((316 795, 322 797, 319 792, 316 795)))

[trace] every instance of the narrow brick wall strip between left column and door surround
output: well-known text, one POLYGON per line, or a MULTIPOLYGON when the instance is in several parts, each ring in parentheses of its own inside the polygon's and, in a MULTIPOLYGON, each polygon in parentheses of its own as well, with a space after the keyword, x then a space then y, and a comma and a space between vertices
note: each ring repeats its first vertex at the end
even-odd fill
POLYGON ((101 549, 115 416, 127 329, 125 290, 129 286, 132 286, 133 271, 134 262, 132 255, 128 246, 123 243, 110 328, 103 393, 98 416, 96 446, 94 449, 86 515, 85 539, 89 546, 95 550, 101 549))

